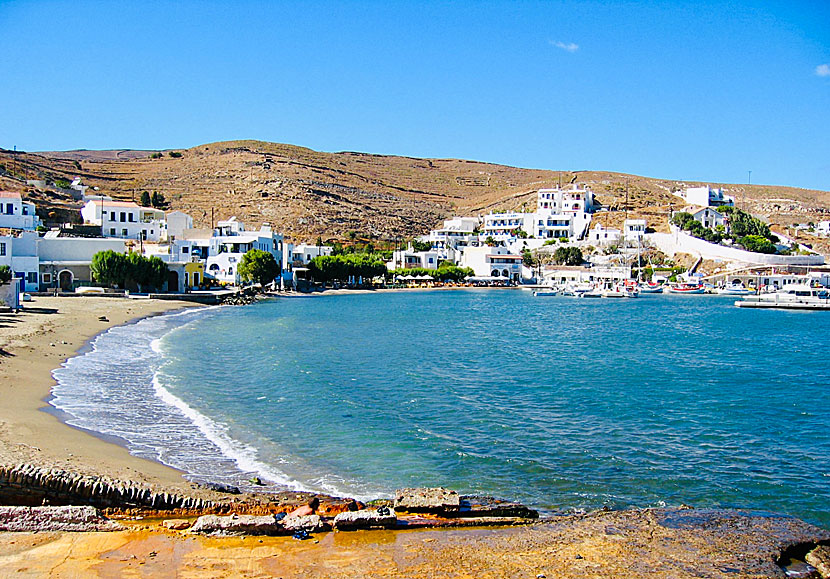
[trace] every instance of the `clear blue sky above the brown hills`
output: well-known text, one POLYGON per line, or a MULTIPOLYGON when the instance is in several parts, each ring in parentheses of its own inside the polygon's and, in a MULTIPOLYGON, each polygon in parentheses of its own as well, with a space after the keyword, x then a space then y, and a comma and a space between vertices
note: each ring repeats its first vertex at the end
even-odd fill
POLYGON ((830 190, 830 0, 7 2, 0 146, 323 151, 830 190))

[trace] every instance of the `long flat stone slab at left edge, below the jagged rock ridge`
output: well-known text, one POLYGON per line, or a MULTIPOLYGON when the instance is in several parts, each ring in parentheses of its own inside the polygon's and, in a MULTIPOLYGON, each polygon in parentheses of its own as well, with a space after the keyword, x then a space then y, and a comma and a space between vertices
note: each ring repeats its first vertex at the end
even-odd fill
POLYGON ((94 507, 0 507, 0 531, 118 531, 94 507))

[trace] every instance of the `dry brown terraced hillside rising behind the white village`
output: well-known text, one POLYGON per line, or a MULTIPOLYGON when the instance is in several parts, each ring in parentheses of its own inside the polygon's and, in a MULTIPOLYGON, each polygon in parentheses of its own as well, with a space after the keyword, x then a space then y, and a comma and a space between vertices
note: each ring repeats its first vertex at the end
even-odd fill
MULTIPOLYGON (((532 208, 536 189, 560 182, 590 185, 610 210, 599 216, 604 223, 624 218, 627 198, 629 215, 645 216, 664 229, 670 209, 682 204, 671 191, 695 184, 603 171, 560 173, 457 159, 322 153, 260 141, 212 143, 161 156, 126 149, 0 150, 0 187, 23 192, 53 220, 77 219, 77 203, 54 187, 38 189, 25 180, 75 176, 116 199, 138 200, 142 191, 158 191, 171 209, 190 213, 199 225, 209 226, 211 216, 215 221, 236 215, 252 225, 270 222, 295 240, 344 237, 350 231, 385 239, 418 235, 453 214, 532 208)), ((739 204, 778 225, 826 218, 830 207, 826 191, 724 187, 739 204)))

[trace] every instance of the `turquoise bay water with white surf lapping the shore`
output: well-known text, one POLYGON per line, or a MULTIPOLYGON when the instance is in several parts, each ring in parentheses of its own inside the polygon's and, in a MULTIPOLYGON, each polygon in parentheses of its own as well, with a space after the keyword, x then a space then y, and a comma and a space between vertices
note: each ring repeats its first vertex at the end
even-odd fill
POLYGON ((276 299, 152 318, 56 371, 70 423, 197 480, 830 526, 830 316, 716 296, 276 299))

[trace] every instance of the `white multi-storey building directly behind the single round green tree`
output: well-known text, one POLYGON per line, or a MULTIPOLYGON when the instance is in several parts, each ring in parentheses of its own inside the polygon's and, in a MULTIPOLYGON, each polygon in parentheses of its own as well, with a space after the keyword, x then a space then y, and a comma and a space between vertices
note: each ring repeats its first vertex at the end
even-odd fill
POLYGON ((236 284, 239 277, 239 264, 251 249, 267 251, 274 256, 278 266, 282 264, 282 235, 271 231, 269 224, 263 224, 259 231, 246 232, 245 226, 236 218, 220 221, 209 239, 208 257, 205 275, 216 281, 236 284))

